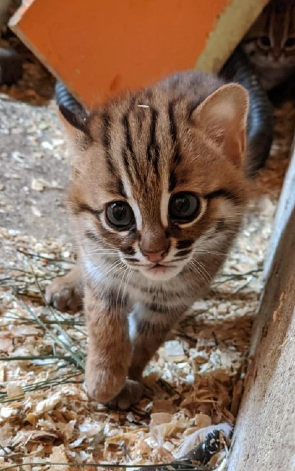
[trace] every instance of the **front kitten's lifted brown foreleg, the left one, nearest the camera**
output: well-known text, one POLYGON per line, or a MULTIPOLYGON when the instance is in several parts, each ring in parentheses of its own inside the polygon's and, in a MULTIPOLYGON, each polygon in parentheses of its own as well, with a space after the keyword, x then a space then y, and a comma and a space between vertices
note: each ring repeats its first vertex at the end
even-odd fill
POLYGON ((85 371, 88 393, 102 403, 117 396, 114 404, 126 408, 121 391, 125 387, 132 399, 137 387, 136 382, 126 382, 131 361, 126 302, 118 292, 94 291, 86 284, 84 306, 89 336, 85 371))

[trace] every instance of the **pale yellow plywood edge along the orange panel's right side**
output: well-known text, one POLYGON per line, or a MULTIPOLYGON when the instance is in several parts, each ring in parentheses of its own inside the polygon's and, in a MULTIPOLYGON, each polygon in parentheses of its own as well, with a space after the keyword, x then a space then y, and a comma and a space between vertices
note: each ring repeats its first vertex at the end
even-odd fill
POLYGON ((232 0, 217 19, 195 68, 219 72, 267 3, 268 0, 232 0))

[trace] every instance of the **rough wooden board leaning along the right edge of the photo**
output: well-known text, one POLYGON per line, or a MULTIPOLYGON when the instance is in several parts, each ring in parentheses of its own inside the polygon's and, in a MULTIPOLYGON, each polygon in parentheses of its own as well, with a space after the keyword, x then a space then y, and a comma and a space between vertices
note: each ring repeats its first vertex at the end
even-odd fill
POLYGON ((295 471, 294 145, 265 274, 228 471, 295 471))

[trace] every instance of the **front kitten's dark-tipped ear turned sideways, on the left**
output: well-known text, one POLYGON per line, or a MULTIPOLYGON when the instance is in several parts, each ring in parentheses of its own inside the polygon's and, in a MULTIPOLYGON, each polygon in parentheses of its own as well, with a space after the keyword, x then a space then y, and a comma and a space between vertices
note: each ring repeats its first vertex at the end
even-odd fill
POLYGON ((84 141, 83 150, 92 141, 87 118, 88 114, 83 109, 78 113, 74 113, 64 105, 59 106, 59 119, 63 123, 70 140, 76 142, 79 147, 84 141))

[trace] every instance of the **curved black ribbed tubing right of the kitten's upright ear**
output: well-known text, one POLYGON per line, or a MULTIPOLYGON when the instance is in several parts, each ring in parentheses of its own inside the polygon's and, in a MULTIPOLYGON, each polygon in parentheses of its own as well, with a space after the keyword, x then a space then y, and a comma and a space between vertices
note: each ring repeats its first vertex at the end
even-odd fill
POLYGON ((261 169, 270 153, 273 138, 273 109, 262 85, 244 53, 236 49, 220 72, 227 81, 243 85, 249 93, 250 110, 247 122, 247 162, 249 177, 261 169))

